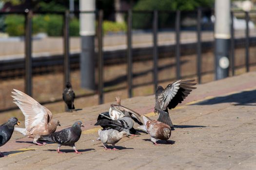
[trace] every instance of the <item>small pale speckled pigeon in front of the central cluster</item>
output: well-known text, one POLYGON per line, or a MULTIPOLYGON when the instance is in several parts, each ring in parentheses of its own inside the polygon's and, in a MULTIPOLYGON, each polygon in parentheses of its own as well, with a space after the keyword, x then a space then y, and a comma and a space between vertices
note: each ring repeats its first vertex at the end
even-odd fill
POLYGON ((114 129, 107 129, 107 130, 98 130, 98 136, 103 143, 103 146, 105 150, 111 150, 110 148, 107 148, 107 144, 112 144, 113 150, 116 151, 118 149, 115 148, 115 144, 118 143, 118 141, 123 137, 129 137, 126 132, 118 132, 114 129))

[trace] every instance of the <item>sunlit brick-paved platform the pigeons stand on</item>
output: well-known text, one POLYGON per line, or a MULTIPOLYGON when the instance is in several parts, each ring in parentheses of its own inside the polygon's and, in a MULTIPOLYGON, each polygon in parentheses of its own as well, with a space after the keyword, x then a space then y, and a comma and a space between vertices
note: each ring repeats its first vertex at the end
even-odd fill
MULTIPOLYGON (((36 146, 15 132, 0 147, 8 155, 0 158, 0 170, 256 169, 256 72, 197 85, 185 102, 170 111, 175 131, 168 144, 159 146, 142 134, 121 139, 120 151, 104 151, 93 124, 109 104, 54 115, 61 128, 76 120, 85 124, 76 144, 82 154, 65 146, 61 149, 66 153, 60 154, 57 144, 36 146)), ((153 95, 122 100, 122 104, 156 118, 153 95)))

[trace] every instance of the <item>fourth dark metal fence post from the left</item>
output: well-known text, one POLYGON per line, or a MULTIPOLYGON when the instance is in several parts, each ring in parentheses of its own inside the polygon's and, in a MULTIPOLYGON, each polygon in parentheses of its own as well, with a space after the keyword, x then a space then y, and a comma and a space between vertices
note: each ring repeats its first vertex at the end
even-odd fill
POLYGON ((128 11, 127 20, 127 83, 128 83, 128 97, 131 98, 133 86, 133 53, 132 53, 132 10, 128 11))

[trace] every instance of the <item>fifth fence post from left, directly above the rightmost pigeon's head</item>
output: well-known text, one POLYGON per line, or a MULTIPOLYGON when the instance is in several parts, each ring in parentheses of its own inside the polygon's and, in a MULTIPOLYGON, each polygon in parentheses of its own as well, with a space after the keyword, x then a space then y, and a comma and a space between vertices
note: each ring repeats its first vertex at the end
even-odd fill
POLYGON ((158 87, 158 11, 153 13, 153 58, 154 58, 154 90, 158 87))

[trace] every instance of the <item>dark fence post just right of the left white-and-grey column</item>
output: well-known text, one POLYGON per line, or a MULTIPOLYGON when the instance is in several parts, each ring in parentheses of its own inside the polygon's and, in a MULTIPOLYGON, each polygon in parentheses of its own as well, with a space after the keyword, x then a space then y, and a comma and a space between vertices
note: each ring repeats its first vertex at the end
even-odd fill
POLYGON ((103 103, 103 52, 102 52, 102 21, 103 11, 98 13, 98 103, 103 103))

